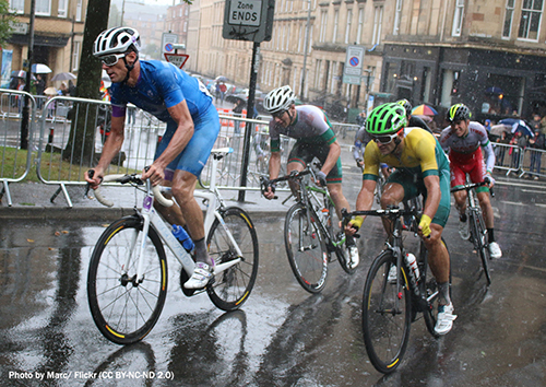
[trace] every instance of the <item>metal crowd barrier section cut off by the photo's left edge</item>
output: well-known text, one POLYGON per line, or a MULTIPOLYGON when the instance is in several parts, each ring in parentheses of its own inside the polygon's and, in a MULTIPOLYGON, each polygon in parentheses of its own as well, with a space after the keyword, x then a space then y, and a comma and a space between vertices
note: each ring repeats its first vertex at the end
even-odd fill
POLYGON ((9 184, 23 180, 31 171, 35 112, 36 101, 31 94, 15 90, 0 89, 0 152, 2 159, 0 167, 0 180, 2 181, 0 200, 5 195, 8 206, 10 207, 13 204, 13 201, 9 184), (22 150, 21 122, 25 96, 28 96, 29 101, 28 149, 22 150))

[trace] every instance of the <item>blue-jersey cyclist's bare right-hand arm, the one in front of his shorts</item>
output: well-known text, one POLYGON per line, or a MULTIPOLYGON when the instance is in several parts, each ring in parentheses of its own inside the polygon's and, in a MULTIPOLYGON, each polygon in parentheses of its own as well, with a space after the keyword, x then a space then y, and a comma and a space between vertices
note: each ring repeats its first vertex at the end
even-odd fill
POLYGON ((178 124, 178 127, 167 149, 154 161, 147 171, 142 173, 142 178, 150 178, 154 186, 165 178, 165 168, 167 165, 182 152, 193 137, 193 120, 191 119, 186 99, 169 107, 167 110, 175 122, 178 124))

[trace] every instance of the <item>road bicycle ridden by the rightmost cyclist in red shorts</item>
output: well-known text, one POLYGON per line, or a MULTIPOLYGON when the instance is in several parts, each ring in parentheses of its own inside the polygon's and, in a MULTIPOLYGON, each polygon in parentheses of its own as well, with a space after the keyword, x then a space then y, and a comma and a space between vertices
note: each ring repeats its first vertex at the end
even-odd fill
MULTIPOLYGON (((463 186, 458 186, 451 188, 451 192, 466 190, 467 202, 466 206, 466 214, 467 222, 470 226, 471 242, 474 244, 474 248, 476 249, 479 259, 482 261, 482 269, 485 274, 485 279, 487 285, 491 284, 491 275, 489 273, 489 259, 491 259, 489 255, 489 244, 487 236, 487 227, 485 225, 485 220, 482 214, 482 208, 479 207, 479 202, 476 196, 476 188, 482 187, 489 184, 489 181, 482 183, 470 183, 463 186)), ((491 196, 492 191, 491 191, 491 196)))

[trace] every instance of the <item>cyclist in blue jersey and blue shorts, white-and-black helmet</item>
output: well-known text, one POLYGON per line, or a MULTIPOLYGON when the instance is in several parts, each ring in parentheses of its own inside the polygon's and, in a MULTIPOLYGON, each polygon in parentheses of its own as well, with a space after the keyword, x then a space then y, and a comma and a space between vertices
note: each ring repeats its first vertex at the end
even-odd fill
POLYGON ((197 261, 186 289, 204 288, 212 279, 214 262, 205 245, 203 212, 193 197, 198 176, 219 132, 219 119, 212 96, 195 78, 171 63, 139 60, 140 35, 130 27, 114 27, 96 38, 93 55, 110 78, 111 129, 93 176, 85 179, 96 188, 123 143, 127 104, 167 122, 152 165, 142 177, 155 186, 170 185, 178 206, 156 209, 171 224, 187 225, 195 244, 197 261), (182 215, 183 213, 183 215, 182 215))

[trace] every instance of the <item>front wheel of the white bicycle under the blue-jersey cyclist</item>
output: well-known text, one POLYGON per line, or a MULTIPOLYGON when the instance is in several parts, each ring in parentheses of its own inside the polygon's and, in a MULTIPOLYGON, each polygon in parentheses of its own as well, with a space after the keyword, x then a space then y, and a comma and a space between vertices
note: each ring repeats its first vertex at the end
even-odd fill
POLYGON ((138 216, 110 224, 98 238, 87 273, 93 320, 117 344, 142 340, 155 326, 167 294, 167 259, 157 232, 150 226, 143 259, 144 278, 134 281, 143 222, 138 216), (132 280, 131 280, 132 279, 132 280))

